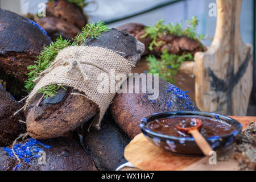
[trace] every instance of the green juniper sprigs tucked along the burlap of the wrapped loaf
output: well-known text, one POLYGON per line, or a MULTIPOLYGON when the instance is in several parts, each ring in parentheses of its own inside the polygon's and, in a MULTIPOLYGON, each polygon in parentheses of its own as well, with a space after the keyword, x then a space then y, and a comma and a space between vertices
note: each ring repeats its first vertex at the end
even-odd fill
MULTIPOLYGON (((69 46, 80 46, 88 38, 97 38, 102 32, 108 31, 109 28, 104 22, 88 23, 82 28, 82 31, 73 38, 73 43, 70 40, 65 40, 61 36, 52 42, 49 46, 44 47, 40 55, 37 56, 38 60, 35 61, 34 65, 28 66, 27 69, 30 70, 28 75, 28 80, 25 81, 25 88, 30 92, 35 86, 35 78, 40 75, 42 71, 47 69, 52 62, 55 60, 57 54, 62 49, 69 46)), ((48 85, 44 88, 38 90, 39 93, 43 93, 45 97, 53 97, 57 93, 57 89, 61 86, 53 84, 48 85)))

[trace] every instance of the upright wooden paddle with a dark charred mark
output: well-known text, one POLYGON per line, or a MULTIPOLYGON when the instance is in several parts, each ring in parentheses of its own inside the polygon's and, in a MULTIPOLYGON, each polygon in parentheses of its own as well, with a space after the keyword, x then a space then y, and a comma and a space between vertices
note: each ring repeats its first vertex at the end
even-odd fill
POLYGON ((207 52, 195 54, 195 100, 202 111, 246 115, 253 85, 253 46, 242 41, 242 0, 217 0, 217 26, 207 52))

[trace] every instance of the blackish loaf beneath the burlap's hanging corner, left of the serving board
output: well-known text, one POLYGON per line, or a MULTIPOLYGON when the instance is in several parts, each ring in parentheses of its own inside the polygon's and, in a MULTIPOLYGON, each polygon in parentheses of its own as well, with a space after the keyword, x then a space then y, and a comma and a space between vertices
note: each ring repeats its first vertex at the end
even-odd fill
POLYGON ((88 125, 83 128, 85 148, 99 170, 115 170, 127 162, 123 152, 130 139, 110 114, 105 114, 100 130, 91 128, 88 131, 88 125))

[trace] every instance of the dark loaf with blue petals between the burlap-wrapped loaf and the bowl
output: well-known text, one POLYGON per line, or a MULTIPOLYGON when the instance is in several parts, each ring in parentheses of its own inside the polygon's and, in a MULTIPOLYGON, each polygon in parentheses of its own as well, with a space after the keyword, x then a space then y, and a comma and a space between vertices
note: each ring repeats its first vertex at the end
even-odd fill
MULTIPOLYGON (((152 79, 152 85, 155 83, 155 77, 152 79)), ((140 81, 140 88, 142 81, 140 81)), ((127 90, 129 81, 127 80, 127 90)), ((135 87, 133 88, 133 90, 135 87)), ((146 93, 119 93, 116 94, 110 112, 115 122, 130 137, 134 138, 141 133, 139 122, 142 118, 154 113, 179 110, 199 110, 196 104, 176 86, 159 78, 159 97, 156 100, 150 100, 146 93)))

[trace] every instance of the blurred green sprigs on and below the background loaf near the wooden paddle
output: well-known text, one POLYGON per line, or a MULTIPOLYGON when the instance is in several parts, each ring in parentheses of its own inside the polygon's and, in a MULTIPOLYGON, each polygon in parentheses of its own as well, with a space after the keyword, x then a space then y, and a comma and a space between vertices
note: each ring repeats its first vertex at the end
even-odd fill
MULTIPOLYGON (((204 35, 199 35, 196 33, 196 26, 199 22, 195 16, 191 20, 186 20, 188 26, 183 27, 183 22, 176 24, 163 24, 164 20, 160 19, 154 26, 146 27, 146 34, 142 35, 142 38, 150 35, 152 42, 148 49, 152 50, 154 46, 159 47, 162 45, 161 41, 158 41, 162 35, 177 35, 177 36, 187 36, 188 38, 194 40, 203 40, 204 35)), ((202 44, 201 44, 202 46, 202 44)), ((162 52, 160 59, 156 59, 155 56, 149 55, 146 60, 149 62, 149 71, 148 73, 159 73, 159 77, 163 78, 166 81, 175 84, 174 76, 181 63, 184 61, 193 61, 193 56, 191 53, 184 52, 182 55, 169 54, 167 50, 162 52)))

